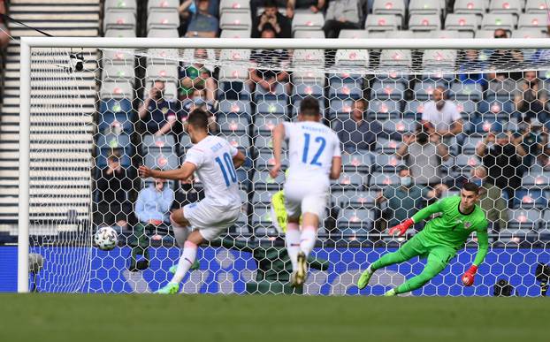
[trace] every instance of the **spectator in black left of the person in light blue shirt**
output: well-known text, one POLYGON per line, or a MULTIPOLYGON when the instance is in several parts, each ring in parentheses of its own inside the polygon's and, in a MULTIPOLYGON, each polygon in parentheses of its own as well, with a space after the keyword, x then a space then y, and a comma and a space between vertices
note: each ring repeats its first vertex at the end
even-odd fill
POLYGON ((118 155, 112 154, 107 158, 107 166, 95 180, 98 196, 95 210, 97 226, 110 226, 117 232, 126 230, 132 212, 129 195, 134 190, 135 179, 135 172, 131 170, 120 165, 118 155))

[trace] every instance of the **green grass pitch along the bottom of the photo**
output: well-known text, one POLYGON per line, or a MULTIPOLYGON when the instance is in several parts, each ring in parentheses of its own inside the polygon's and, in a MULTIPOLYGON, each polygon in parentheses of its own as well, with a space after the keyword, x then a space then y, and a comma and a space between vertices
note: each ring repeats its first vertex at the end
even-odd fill
POLYGON ((550 341, 545 298, 1 294, 0 341, 550 341))

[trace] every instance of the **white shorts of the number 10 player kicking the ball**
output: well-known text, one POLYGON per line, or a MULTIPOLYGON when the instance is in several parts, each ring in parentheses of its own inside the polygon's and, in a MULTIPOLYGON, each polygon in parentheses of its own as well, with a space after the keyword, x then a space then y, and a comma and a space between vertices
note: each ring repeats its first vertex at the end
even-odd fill
POLYGON ((201 232, 207 241, 218 238, 239 219, 241 207, 227 208, 211 203, 208 199, 187 204, 183 207, 183 216, 193 229, 201 232))

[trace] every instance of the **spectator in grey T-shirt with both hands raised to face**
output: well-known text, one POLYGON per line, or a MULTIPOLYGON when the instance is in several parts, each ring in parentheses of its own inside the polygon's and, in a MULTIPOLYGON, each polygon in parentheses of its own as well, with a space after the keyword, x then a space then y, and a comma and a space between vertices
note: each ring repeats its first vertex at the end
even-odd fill
POLYGON ((447 147, 441 143, 438 133, 429 133, 424 125, 416 133, 406 135, 397 149, 397 157, 406 159, 415 183, 419 186, 435 186, 441 183, 441 159, 449 158, 447 147))

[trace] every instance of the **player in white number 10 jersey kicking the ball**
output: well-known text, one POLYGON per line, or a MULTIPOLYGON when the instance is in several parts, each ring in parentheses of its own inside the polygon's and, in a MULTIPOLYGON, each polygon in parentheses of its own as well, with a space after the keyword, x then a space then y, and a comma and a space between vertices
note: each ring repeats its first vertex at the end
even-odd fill
POLYGON ((226 232, 241 212, 241 196, 235 167, 245 156, 222 138, 208 134, 208 116, 193 110, 187 118, 187 133, 195 144, 189 148, 180 169, 156 171, 140 166, 142 178, 185 180, 196 171, 204 186, 204 199, 175 210, 170 216, 176 242, 183 251, 172 280, 157 293, 178 293, 180 283, 196 259, 197 247, 226 232), (195 231, 189 233, 188 227, 195 231))

